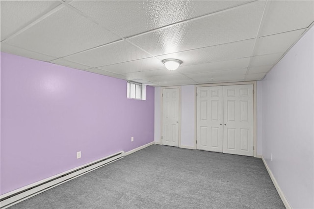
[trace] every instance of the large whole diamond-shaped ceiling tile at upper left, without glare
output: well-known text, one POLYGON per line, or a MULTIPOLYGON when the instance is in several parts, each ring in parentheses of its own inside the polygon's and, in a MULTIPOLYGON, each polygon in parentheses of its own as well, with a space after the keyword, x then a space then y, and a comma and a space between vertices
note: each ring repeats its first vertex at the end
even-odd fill
POLYGON ((119 39, 64 7, 7 41, 30 51, 63 57, 119 39))

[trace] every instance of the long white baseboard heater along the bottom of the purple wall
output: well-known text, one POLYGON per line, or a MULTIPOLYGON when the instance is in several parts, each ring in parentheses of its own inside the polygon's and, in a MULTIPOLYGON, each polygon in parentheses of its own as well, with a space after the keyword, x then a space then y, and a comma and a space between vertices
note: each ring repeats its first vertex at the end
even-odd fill
POLYGON ((75 179, 83 174, 91 172, 97 168, 100 168, 108 163, 111 163, 123 157, 124 151, 121 151, 113 155, 103 157, 101 159, 87 163, 80 167, 74 168, 72 170, 66 171, 64 173, 55 175, 48 179, 32 183, 28 186, 3 194, 0 196, 0 209, 6 209, 19 202, 22 202, 23 200, 26 200, 44 191, 47 191, 48 189, 51 189, 62 183, 66 183, 72 179, 75 179))

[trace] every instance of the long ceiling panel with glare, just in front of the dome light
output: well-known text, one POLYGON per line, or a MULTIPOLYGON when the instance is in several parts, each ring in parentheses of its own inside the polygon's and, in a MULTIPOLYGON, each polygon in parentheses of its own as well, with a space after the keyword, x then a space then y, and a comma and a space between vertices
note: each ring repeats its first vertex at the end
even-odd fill
POLYGON ((157 56, 255 38, 264 4, 265 1, 256 1, 228 12, 162 28, 129 40, 157 56))

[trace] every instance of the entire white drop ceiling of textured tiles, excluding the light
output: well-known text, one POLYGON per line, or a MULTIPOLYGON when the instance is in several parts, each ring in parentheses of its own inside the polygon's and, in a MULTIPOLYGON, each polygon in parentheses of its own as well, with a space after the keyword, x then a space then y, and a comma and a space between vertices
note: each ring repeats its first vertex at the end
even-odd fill
POLYGON ((152 86, 251 81, 313 25, 314 0, 1 0, 1 51, 152 86))

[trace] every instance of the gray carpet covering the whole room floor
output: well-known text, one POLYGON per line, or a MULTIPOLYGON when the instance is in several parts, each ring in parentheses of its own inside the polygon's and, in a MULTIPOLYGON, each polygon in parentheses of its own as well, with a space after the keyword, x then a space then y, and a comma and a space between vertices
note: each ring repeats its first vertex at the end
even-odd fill
POLYGON ((261 159, 152 145, 10 209, 285 208, 261 159))

